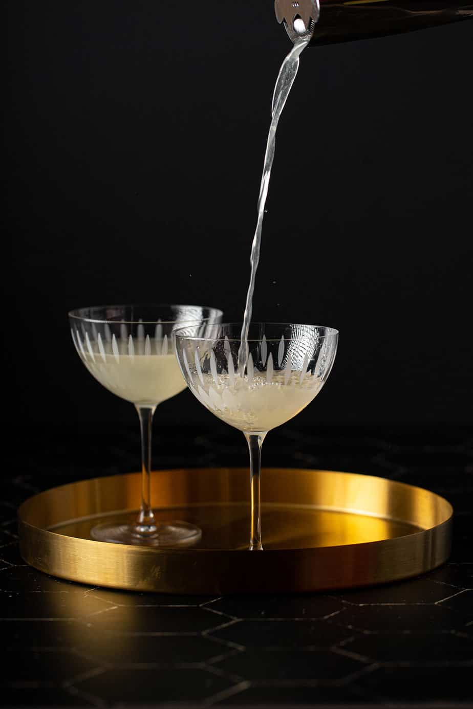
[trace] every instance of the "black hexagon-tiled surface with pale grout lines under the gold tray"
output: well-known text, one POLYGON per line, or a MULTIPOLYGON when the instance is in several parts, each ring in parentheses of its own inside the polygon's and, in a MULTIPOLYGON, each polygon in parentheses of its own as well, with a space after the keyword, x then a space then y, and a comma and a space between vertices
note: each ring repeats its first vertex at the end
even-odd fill
MULTIPOLYGON (((1 484, 4 705, 473 706, 471 428, 272 432, 268 466, 377 474, 447 497, 452 557, 418 579, 377 588, 225 598, 89 588, 24 564, 18 503, 57 484, 137 469, 138 432, 119 433, 109 432, 109 443, 103 430, 80 440, 55 432, 49 442, 33 434, 21 474, 1 484)), ((156 468, 189 459, 247 464, 243 438, 221 428, 166 429, 155 454, 156 468)))

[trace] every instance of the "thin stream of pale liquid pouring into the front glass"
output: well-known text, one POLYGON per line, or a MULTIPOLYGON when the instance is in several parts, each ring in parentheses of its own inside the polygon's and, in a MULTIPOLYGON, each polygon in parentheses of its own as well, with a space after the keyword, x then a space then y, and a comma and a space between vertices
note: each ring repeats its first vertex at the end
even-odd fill
POLYGON ((293 48, 282 62, 281 69, 274 86, 274 94, 272 99, 272 120, 269 126, 269 133, 266 143, 265 164, 260 185, 260 196, 257 203, 257 224, 255 236, 251 247, 251 275, 250 285, 248 286, 245 313, 243 315, 243 327, 241 330, 240 347, 238 349, 238 372, 243 376, 248 359, 248 330, 250 328, 252 316, 253 293, 255 291, 255 279, 258 263, 260 261, 261 235, 263 227, 263 219, 265 218, 265 204, 269 189, 269 179, 271 177, 271 169, 274 161, 274 149, 276 144, 276 132, 279 118, 286 104, 287 98, 291 92, 292 84, 296 78, 299 69, 299 57, 310 41, 309 38, 299 38, 294 43, 293 48))

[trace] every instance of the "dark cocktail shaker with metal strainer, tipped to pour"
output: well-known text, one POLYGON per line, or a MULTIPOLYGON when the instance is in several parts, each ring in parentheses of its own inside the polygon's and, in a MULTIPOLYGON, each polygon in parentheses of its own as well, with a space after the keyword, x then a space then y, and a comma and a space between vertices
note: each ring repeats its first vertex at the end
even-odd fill
POLYGON ((311 45, 392 35, 473 17, 472 0, 274 0, 277 21, 294 42, 311 45))

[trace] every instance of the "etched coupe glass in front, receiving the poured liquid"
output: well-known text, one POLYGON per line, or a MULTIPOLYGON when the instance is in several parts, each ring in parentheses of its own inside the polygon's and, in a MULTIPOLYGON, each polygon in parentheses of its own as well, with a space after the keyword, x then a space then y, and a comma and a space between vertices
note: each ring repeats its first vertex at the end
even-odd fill
POLYGON ((250 549, 262 549, 261 447, 269 430, 293 418, 321 391, 333 366, 338 331, 318 325, 241 323, 174 330, 176 355, 191 392, 243 431, 250 449, 250 549), (243 372, 238 352, 243 347, 243 372))

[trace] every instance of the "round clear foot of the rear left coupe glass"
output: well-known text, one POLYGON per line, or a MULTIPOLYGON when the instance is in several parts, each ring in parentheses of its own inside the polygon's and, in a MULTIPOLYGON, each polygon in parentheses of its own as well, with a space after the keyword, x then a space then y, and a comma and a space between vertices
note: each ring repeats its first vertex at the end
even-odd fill
POLYGON ((135 524, 104 523, 91 529, 92 539, 113 544, 140 547, 188 547, 199 541, 202 532, 189 522, 169 522, 156 525, 154 532, 140 534, 135 524))

